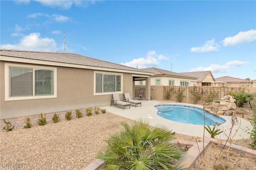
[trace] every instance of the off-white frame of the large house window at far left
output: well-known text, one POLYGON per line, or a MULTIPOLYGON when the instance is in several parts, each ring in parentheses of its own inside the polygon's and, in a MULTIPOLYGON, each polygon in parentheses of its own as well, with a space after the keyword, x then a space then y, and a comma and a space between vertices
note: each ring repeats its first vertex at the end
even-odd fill
POLYGON ((47 66, 35 66, 35 65, 26 65, 26 64, 4 64, 4 96, 5 101, 12 100, 32 100, 32 99, 46 99, 46 98, 57 98, 57 68, 56 67, 47 67, 47 66), (32 68, 33 69, 33 95, 32 96, 15 96, 10 97, 10 67, 19 67, 19 68, 32 68), (46 96, 35 96, 35 79, 34 71, 35 69, 46 69, 53 71, 53 95, 46 96))

